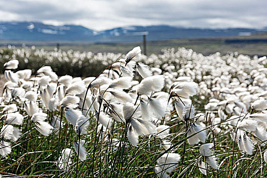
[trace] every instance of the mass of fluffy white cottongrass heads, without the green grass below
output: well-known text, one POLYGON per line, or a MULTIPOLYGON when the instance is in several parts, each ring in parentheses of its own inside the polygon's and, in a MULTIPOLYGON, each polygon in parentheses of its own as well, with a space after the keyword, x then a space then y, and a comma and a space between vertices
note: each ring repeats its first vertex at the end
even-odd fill
MULTIPOLYGON (((123 58, 112 55, 115 61, 106 70, 84 79, 58 77, 50 66, 43 66, 31 77, 28 69, 14 72, 17 60, 5 63, 0 155, 12 153, 12 144, 22 135, 18 126, 28 122, 43 136, 59 137, 64 122, 71 124, 77 134, 73 147, 81 161, 88 155, 84 135, 92 123, 97 123, 96 133, 102 142, 115 127, 123 127, 129 144, 136 147, 141 144, 140 137, 155 137, 164 152, 155 166, 158 177, 169 177, 181 159, 177 150, 182 148, 171 136, 172 121, 185 124, 186 143, 198 147, 201 159, 195 165, 205 175, 208 165, 219 169, 216 135, 230 135, 242 154, 253 155, 255 144, 266 144, 266 57, 203 56, 185 48, 162 52, 147 57, 135 47, 123 58), (209 136, 213 142, 207 142, 209 136)), ((99 55, 95 57, 101 58, 99 55)), ((115 147, 122 145, 123 137, 112 138, 115 147)), ((70 168, 71 155, 71 149, 62 151, 57 160, 59 169, 70 168)), ((265 162, 266 157, 265 151, 265 162)))

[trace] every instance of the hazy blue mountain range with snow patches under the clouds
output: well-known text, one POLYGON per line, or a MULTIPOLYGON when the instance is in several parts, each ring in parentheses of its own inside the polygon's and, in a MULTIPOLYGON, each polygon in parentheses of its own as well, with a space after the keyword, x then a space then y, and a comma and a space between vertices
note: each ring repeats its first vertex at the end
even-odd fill
POLYGON ((247 36, 267 28, 184 28, 169 25, 128 26, 94 31, 81 25, 49 25, 41 22, 0 22, 0 40, 58 42, 135 42, 146 35, 149 41, 177 38, 247 36))

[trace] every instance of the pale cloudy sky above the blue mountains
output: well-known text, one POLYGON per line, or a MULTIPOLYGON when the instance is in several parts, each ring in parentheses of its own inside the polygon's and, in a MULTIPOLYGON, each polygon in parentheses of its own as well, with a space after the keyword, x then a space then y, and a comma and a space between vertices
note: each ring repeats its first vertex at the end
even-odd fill
POLYGON ((0 21, 80 24, 95 30, 129 25, 267 26, 267 0, 0 0, 0 21))

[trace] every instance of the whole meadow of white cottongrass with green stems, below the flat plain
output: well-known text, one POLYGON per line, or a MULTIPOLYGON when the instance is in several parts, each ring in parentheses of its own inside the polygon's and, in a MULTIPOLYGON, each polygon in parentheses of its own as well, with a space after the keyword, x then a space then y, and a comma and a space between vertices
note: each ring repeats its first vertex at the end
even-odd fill
POLYGON ((266 177, 267 58, 1 48, 2 177, 266 177))

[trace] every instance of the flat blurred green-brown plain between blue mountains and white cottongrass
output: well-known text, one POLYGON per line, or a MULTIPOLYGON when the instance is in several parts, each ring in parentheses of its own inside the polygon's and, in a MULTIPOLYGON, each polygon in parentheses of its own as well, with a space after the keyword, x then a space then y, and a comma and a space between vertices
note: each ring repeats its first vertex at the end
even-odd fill
MULTIPOLYGON (((267 55, 267 42, 266 41, 239 41, 235 43, 226 43, 227 40, 266 40, 266 34, 256 34, 252 36, 240 37, 218 37, 218 38, 197 38, 197 39, 172 39, 162 41, 148 41, 146 51, 150 55, 152 53, 161 53, 161 49, 185 47, 193 49, 196 52, 204 55, 210 55, 215 52, 226 54, 228 52, 238 51, 241 54, 253 56, 267 55)), ((28 46, 36 45, 38 49, 44 48, 45 50, 53 50, 57 42, 12 42, 5 41, 0 44, 15 44, 17 47, 25 43, 28 46)), ((79 50, 79 51, 92 51, 98 52, 113 52, 113 53, 127 53, 128 49, 132 46, 141 46, 142 42, 134 43, 79 43, 79 42, 62 42, 60 43, 62 50, 79 50)))

